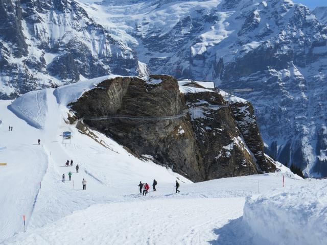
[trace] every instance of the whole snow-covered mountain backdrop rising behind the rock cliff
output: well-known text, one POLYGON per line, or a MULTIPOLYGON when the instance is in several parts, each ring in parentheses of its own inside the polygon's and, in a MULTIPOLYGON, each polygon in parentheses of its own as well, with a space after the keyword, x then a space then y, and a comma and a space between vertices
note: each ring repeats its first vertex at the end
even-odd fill
POLYGON ((3 98, 108 71, 252 87, 242 97, 255 107, 269 154, 327 176, 327 27, 307 7, 290 0, 2 2, 8 14, 1 18, 10 22, 0 29, 3 98))

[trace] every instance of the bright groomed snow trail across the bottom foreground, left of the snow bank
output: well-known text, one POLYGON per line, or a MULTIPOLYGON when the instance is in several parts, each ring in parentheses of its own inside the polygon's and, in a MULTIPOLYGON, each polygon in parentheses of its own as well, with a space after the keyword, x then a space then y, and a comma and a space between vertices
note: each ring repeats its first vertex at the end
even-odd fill
POLYGON ((33 233, 17 236, 10 244, 20 244, 22 239, 25 244, 53 245, 208 244, 216 238, 213 227, 242 215, 243 205, 244 199, 150 200, 95 205, 33 233))

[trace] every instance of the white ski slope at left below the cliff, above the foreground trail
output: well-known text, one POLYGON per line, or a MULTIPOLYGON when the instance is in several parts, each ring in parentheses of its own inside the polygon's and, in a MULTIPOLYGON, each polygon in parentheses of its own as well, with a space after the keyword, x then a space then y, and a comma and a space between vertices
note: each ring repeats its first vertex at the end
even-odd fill
MULTIPOLYGON (((81 84, 85 90, 90 86, 88 81, 81 84)), ((69 89, 67 86, 66 92, 69 89)), ((26 215, 29 227, 39 227, 91 204, 112 202, 116 195, 137 193, 141 180, 150 183, 156 178, 162 186, 174 183, 176 178, 190 183, 166 167, 135 158, 97 132, 82 134, 75 126, 66 124, 68 109, 57 103, 54 89, 35 92, 19 97, 12 105, 10 101, 1 101, 0 160, 7 166, 2 166, 0 172, 4 187, 0 191, 0 242, 22 230, 22 215, 26 215), (35 101, 35 92, 44 95, 37 96, 39 103, 35 101), (33 127, 41 122, 42 129, 33 127), (7 131, 9 125, 13 131, 7 131), (60 135, 67 130, 73 138, 63 144, 60 135), (74 167, 64 167, 67 159, 74 160, 74 167), (80 166, 79 174, 76 164, 80 166), (62 174, 68 178, 68 171, 73 173, 74 188, 73 182, 61 183, 62 174), (82 178, 88 182, 85 193, 80 191, 82 178)), ((62 96, 58 97, 62 101, 62 96)), ((133 195, 125 197, 131 198, 133 195)))

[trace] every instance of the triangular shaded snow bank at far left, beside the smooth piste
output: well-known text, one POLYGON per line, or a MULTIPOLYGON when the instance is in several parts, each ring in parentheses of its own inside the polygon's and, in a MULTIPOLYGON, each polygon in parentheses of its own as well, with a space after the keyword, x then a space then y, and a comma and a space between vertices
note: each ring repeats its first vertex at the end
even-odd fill
POLYGON ((8 108, 29 125, 41 129, 46 117, 46 90, 37 90, 18 97, 8 108))

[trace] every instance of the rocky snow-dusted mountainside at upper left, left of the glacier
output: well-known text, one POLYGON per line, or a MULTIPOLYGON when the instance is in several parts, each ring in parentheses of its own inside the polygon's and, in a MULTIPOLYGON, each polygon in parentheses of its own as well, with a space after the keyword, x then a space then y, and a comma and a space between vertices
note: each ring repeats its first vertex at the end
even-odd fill
POLYGON ((0 2, 0 98, 77 82, 139 74, 135 53, 71 0, 0 2))

